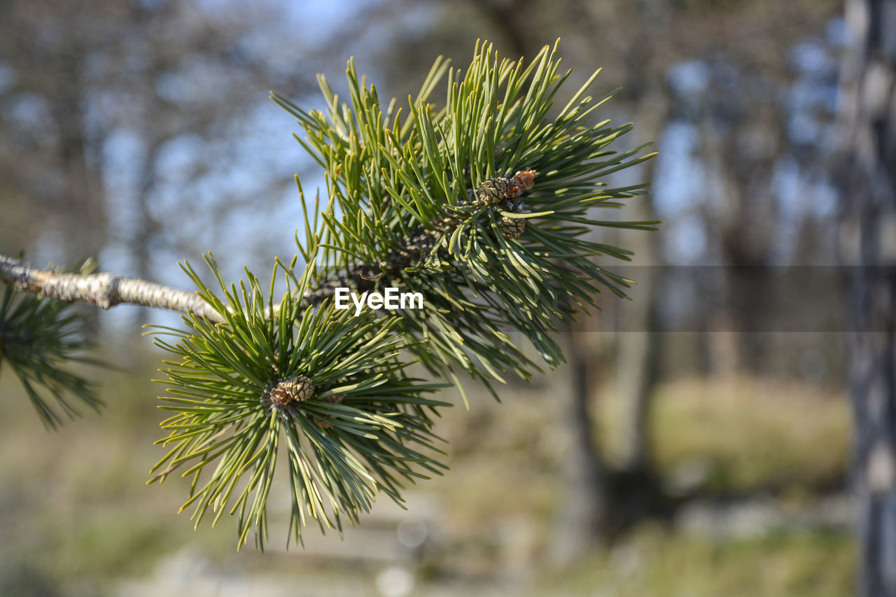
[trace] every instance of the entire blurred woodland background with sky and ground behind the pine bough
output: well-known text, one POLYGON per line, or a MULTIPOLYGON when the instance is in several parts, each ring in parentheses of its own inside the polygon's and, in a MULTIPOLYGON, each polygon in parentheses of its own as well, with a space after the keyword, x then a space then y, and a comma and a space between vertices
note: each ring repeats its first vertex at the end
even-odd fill
MULTIPOLYGON (((9 595, 847 595, 847 296, 839 261, 841 63, 834 0, 4 0, 0 252, 189 288, 211 251, 231 278, 295 253, 323 177, 278 91, 323 108, 345 62, 407 98, 477 39, 534 56, 562 38, 565 92, 602 68, 617 150, 659 156, 615 182, 650 195, 600 231, 633 301, 564 334, 569 365, 439 423, 441 479, 381 502, 344 541, 235 552, 224 519, 144 487, 162 455, 161 354, 136 307, 97 316, 102 415, 47 433, 0 376, 0 593, 9 595), (309 194, 313 195, 313 193, 309 194)), ((438 97, 438 94, 435 95, 438 97)), ((565 102, 560 99, 560 105, 565 102)), ((451 399, 457 398, 448 391, 451 399)), ((461 403, 459 400, 458 403, 461 403)))

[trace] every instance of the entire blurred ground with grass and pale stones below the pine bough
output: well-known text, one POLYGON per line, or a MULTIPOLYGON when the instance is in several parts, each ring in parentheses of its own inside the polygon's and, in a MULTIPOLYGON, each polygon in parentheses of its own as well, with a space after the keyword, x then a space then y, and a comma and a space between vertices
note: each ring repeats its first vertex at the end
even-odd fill
MULTIPOLYGON (((282 549, 286 502, 271 501, 271 545, 236 552, 225 517, 192 530, 179 479, 144 487, 162 412, 148 355, 109 373, 108 408, 47 432, 0 371, 0 594, 9 595, 843 595, 855 549, 843 495, 848 403, 813 385, 749 377, 656 389, 651 426, 668 489, 694 496, 668 523, 643 523, 573 567, 547 558, 567 438, 564 370, 471 396, 445 411, 452 470, 381 502, 344 541, 306 530, 282 549), (676 532, 673 532, 676 531, 676 532)), ((613 388, 596 391, 608 457, 613 388)), ((458 401, 460 402, 460 401, 458 401)))

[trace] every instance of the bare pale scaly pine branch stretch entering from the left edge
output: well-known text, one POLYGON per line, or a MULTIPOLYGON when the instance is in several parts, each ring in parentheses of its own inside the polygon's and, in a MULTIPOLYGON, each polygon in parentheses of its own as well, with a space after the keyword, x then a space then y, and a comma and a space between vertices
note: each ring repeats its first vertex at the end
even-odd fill
POLYGON ((18 290, 66 303, 83 300, 101 309, 125 303, 193 313, 214 323, 224 321, 217 311, 194 293, 112 273, 81 275, 47 272, 0 254, 0 281, 18 290))

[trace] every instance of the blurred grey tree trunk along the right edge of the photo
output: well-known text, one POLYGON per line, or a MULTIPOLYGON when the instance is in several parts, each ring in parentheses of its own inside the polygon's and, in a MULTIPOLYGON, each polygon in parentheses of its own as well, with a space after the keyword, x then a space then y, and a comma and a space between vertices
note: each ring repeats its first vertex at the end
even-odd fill
POLYGON ((851 273, 858 594, 896 596, 896 0, 847 0, 841 228, 851 273))

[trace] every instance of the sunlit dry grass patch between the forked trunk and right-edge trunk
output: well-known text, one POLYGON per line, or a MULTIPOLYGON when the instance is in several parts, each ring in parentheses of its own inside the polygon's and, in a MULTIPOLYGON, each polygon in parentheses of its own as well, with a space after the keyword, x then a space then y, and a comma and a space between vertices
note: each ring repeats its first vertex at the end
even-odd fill
MULTIPOLYGON (((849 402, 817 386, 734 377, 682 379, 657 389, 651 419, 659 470, 702 471, 707 489, 799 490, 844 479, 849 402)), ((600 434, 618 456, 621 404, 599 396, 600 434)))

